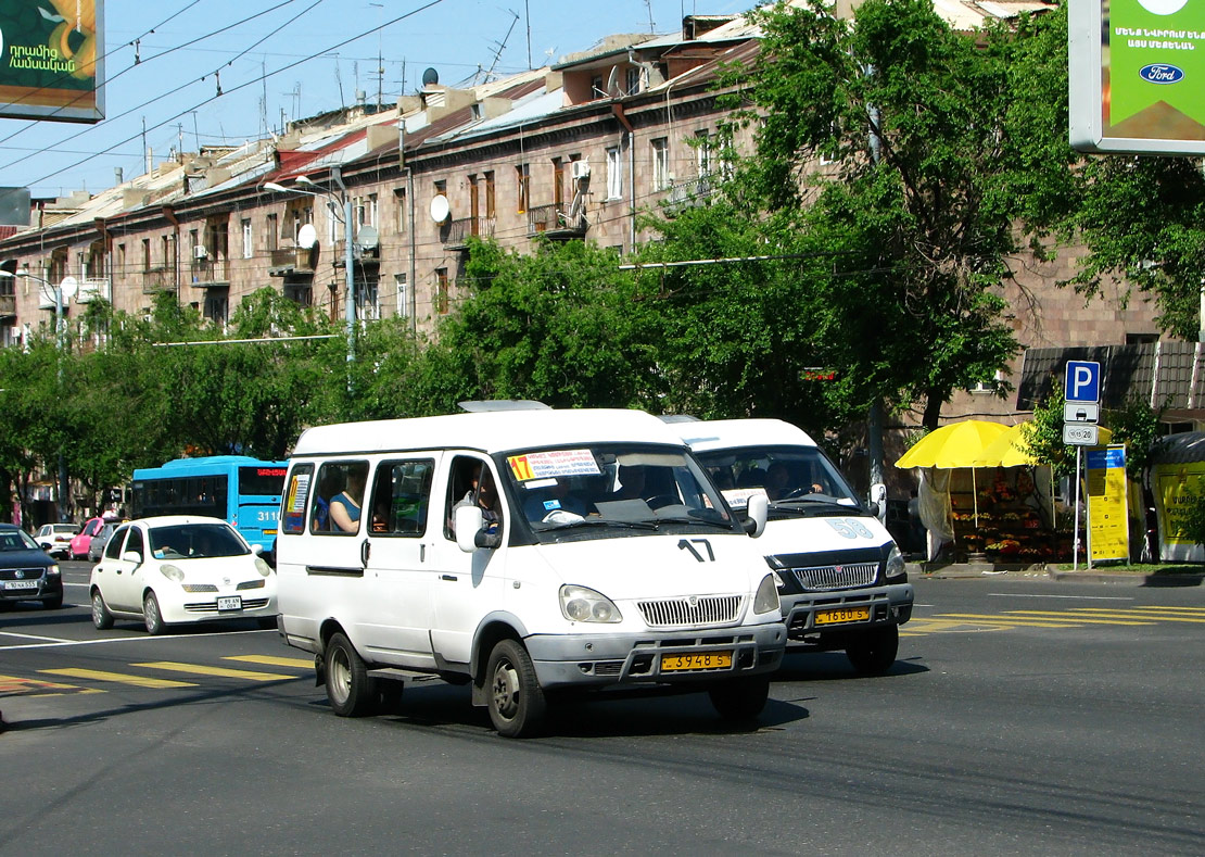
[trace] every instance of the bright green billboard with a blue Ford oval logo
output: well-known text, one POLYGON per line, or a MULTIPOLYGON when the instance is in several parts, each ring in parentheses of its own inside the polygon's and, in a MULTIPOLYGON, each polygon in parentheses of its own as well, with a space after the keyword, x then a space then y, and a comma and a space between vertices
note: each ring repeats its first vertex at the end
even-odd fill
POLYGON ((1205 0, 1070 0, 1070 142, 1205 154, 1205 0))

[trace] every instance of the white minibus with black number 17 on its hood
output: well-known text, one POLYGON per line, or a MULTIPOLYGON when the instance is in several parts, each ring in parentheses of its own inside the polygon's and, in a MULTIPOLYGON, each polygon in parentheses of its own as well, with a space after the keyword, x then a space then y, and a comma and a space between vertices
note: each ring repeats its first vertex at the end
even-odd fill
POLYGON ((787 640, 751 509, 641 411, 316 427, 281 506, 278 627, 343 716, 421 674, 471 682, 507 736, 575 689, 689 686, 747 720, 787 640))

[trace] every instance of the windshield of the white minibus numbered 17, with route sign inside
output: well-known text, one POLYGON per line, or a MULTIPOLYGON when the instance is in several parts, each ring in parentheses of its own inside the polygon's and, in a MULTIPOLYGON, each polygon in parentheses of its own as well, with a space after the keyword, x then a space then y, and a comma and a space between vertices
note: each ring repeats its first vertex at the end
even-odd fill
POLYGON ((519 517, 543 544, 735 528, 698 462, 674 446, 530 450, 499 464, 519 517))

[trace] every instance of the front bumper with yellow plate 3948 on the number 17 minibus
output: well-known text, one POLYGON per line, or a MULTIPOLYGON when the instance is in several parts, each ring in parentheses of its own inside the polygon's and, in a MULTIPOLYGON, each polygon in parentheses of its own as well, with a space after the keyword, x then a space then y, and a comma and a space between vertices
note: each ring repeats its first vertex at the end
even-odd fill
POLYGON ((776 670, 787 627, 768 622, 645 634, 535 634, 524 642, 542 687, 663 685, 776 670))

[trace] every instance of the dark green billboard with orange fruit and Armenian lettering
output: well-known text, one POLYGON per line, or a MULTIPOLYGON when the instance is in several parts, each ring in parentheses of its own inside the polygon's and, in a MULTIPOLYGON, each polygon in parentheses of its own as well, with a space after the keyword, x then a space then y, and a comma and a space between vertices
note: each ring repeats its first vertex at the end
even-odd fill
POLYGON ((105 118, 104 0, 0 0, 0 117, 105 118))

